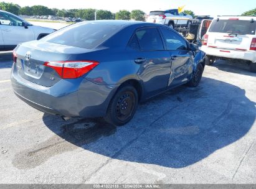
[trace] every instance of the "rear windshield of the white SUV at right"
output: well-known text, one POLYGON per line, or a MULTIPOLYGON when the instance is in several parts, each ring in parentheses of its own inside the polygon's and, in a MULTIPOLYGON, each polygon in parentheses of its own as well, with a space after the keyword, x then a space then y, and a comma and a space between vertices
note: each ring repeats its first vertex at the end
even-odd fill
POLYGON ((256 22, 240 20, 214 20, 209 32, 255 35, 256 22))

